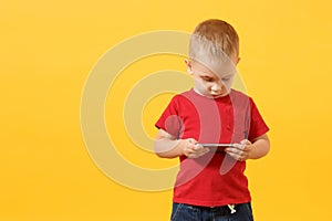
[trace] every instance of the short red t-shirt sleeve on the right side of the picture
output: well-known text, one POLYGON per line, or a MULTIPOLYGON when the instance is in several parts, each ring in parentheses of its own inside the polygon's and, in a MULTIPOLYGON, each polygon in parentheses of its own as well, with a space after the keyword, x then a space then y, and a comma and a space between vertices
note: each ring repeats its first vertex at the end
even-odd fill
POLYGON ((252 140, 269 131, 269 127, 260 115, 255 102, 250 98, 250 129, 248 139, 252 140))

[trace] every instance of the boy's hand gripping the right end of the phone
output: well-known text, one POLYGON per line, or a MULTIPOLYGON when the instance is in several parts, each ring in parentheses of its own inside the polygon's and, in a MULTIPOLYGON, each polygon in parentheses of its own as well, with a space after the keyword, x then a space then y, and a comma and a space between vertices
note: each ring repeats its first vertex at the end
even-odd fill
POLYGON ((240 144, 235 144, 232 147, 225 148, 225 151, 236 160, 245 161, 249 158, 252 146, 251 141, 243 139, 240 144))

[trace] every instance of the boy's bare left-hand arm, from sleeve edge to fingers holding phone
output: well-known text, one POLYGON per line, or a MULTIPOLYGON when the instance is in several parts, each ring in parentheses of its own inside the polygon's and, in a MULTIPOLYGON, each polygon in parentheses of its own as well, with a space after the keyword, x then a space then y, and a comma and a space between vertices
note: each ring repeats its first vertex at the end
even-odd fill
POLYGON ((197 145, 194 138, 176 139, 174 136, 159 129, 154 144, 155 152, 162 158, 175 158, 181 155, 188 158, 197 158, 209 151, 197 145))

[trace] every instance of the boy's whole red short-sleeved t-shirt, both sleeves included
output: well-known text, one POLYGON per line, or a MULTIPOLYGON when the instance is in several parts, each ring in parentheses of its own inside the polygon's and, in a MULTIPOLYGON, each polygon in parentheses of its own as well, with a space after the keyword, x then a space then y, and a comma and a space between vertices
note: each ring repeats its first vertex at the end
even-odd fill
MULTIPOLYGON (((194 90, 176 95, 156 127, 177 139, 221 144, 252 140, 269 130, 253 101, 235 90, 216 99, 194 90)), ((216 150, 196 159, 185 156, 179 159, 174 202, 216 207, 251 200, 243 175, 246 161, 237 161, 225 151, 216 150)))

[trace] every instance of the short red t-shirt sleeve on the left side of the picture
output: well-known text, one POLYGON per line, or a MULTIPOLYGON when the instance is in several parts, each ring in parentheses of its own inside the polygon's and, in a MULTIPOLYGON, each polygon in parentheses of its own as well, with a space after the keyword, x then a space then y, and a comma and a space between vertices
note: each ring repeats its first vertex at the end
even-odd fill
POLYGON ((175 138, 179 138, 181 134, 181 119, 178 115, 179 105, 178 105, 178 97, 175 96, 156 122, 155 126, 158 129, 164 129, 175 138))

